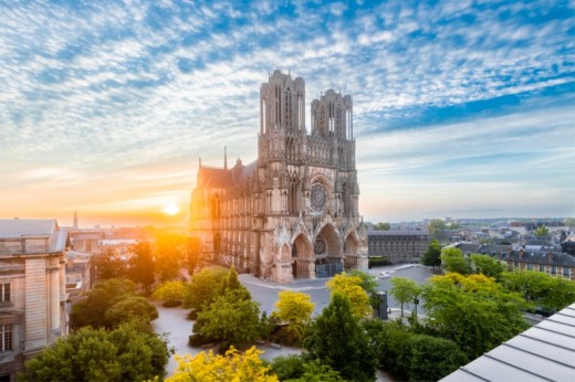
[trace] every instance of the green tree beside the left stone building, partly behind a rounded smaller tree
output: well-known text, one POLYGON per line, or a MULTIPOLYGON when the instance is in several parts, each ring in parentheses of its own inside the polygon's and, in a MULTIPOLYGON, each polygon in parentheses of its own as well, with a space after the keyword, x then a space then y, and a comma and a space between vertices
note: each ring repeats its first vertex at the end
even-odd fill
POLYGON ((135 290, 136 285, 128 279, 112 278, 97 283, 86 298, 72 307, 70 328, 109 327, 106 321, 106 311, 122 299, 134 297, 135 290))

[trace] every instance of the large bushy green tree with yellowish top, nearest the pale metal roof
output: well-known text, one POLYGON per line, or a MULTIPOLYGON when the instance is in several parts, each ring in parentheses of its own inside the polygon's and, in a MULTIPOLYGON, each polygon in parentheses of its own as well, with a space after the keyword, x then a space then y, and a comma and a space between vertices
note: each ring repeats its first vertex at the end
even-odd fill
POLYGON ((522 297, 484 275, 433 276, 422 296, 428 329, 459 344, 470 359, 527 328, 522 297))

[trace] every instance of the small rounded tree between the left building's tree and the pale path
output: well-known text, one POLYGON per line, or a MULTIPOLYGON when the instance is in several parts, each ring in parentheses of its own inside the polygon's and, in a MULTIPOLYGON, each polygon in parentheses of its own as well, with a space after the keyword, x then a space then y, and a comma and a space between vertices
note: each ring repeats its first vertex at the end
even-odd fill
POLYGON ((158 318, 158 309, 144 297, 130 296, 109 307, 104 317, 106 326, 112 328, 134 319, 149 323, 158 318))

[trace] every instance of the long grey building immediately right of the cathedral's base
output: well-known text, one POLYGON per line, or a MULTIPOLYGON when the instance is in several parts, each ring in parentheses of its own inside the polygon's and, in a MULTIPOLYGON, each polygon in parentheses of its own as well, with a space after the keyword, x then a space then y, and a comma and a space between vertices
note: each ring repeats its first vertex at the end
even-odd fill
POLYGON ((369 231, 369 256, 386 256, 393 264, 419 263, 431 242, 427 230, 369 231))

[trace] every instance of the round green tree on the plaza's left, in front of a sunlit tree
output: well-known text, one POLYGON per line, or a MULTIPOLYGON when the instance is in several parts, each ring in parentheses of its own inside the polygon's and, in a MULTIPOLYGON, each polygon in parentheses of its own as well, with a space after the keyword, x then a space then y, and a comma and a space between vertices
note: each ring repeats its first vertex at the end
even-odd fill
POLYGON ((260 335, 260 308, 251 299, 228 293, 198 314, 194 332, 222 341, 220 349, 251 344, 260 335))

